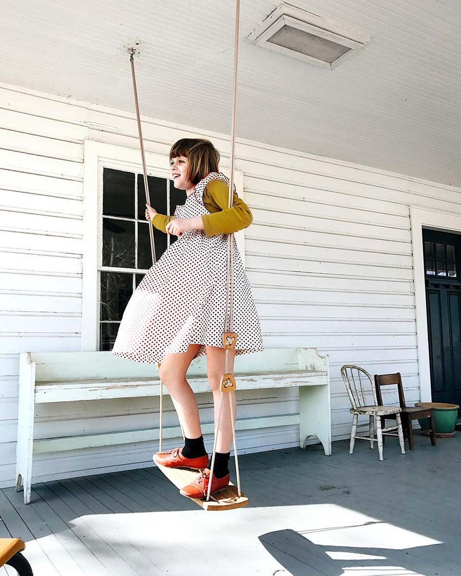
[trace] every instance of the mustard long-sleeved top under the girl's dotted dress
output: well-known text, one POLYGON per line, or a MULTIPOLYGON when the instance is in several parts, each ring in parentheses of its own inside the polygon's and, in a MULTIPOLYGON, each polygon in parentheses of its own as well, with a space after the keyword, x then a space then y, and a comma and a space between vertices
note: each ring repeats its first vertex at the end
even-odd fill
MULTIPOLYGON (((211 180, 203 191, 203 204, 210 214, 202 216, 206 236, 230 234, 250 226, 253 215, 247 204, 234 195, 232 208, 228 208, 229 187, 222 180, 211 180)), ((153 225, 161 232, 166 232, 165 226, 174 216, 156 214, 152 218, 153 225)))

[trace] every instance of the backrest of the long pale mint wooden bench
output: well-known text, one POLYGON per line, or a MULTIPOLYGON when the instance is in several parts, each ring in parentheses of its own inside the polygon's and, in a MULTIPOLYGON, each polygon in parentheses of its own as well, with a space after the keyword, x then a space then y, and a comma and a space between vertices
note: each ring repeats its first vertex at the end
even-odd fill
MULTIPOLYGON (((36 382, 89 380, 92 378, 152 378, 157 377, 154 364, 124 360, 111 352, 43 352, 29 354, 36 363, 36 382)), ((243 354, 236 358, 235 374, 267 374, 308 370, 325 372, 327 357, 315 348, 267 348, 263 352, 243 354)), ((195 359, 187 374, 205 376, 206 357, 195 359)))

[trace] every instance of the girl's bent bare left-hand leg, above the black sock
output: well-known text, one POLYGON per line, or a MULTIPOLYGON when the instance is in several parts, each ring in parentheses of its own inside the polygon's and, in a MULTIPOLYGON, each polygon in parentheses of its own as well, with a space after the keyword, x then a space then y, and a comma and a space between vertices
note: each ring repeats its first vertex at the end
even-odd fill
POLYGON ((158 370, 161 381, 167 386, 173 400, 186 438, 198 438, 202 434, 197 400, 186 380, 187 369, 200 347, 200 344, 190 344, 187 352, 167 354, 158 370))

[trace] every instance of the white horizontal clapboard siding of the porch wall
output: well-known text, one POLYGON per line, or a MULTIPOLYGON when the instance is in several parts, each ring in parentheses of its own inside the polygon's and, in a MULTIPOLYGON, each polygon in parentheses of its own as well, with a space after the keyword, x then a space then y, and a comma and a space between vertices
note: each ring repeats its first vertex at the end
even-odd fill
MULTIPOLYGON (((12 486, 18 353, 81 350, 84 140, 137 152, 138 141, 133 113, 5 85, 0 127, 0 486, 12 486)), ((164 156, 167 169, 171 143, 197 132, 145 118, 143 134, 146 150, 164 156)), ((228 168, 228 138, 209 136, 228 168)), ((410 208, 461 214, 461 191, 250 141, 238 142, 236 168, 254 215, 245 231, 245 266, 264 344, 330 355, 333 437, 350 434, 345 363, 371 374, 402 373, 407 403, 417 401, 410 208)), ((212 419, 210 399, 199 397, 204 422, 212 419)), ((296 388, 245 391, 239 414, 296 412, 297 402, 296 388)), ((168 397, 164 418, 176 425, 168 397)), ((158 399, 108 400, 40 406, 36 431, 45 437, 157 423, 158 399)), ((297 445, 294 426, 238 437, 242 452, 297 445)), ((156 449, 145 442, 37 454, 35 472, 65 478, 143 467, 156 449)))

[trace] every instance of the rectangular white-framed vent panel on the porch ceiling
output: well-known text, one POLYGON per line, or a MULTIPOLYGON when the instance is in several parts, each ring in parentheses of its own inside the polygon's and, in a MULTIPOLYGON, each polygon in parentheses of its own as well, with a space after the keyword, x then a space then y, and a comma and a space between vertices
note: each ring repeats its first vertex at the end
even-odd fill
POLYGON ((370 37, 282 2, 248 39, 262 48, 331 70, 362 50, 370 37))

